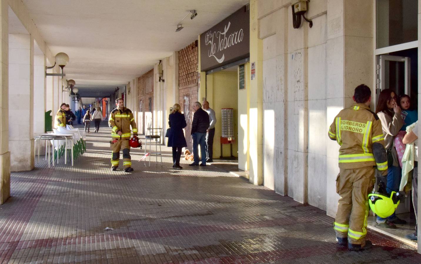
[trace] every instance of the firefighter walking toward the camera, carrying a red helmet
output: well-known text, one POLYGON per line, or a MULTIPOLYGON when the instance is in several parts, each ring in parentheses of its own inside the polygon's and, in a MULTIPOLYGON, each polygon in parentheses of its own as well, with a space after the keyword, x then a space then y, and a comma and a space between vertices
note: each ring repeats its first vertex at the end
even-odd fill
POLYGON ((133 130, 133 136, 137 136, 137 127, 134 121, 133 113, 130 109, 124 107, 124 101, 122 98, 115 100, 115 108, 111 111, 108 119, 109 127, 112 127, 111 131, 111 169, 117 170, 118 162, 120 160, 120 149, 123 150, 123 167, 125 172, 133 172, 131 167, 130 157, 130 145, 129 140, 131 136, 131 129, 133 130))

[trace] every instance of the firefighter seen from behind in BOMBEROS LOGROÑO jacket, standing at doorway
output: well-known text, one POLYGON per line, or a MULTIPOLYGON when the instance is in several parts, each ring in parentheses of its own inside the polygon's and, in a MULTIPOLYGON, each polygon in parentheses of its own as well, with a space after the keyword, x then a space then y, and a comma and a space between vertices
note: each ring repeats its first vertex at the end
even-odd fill
POLYGON ((333 227, 336 240, 342 246, 348 243, 350 250, 360 250, 372 246, 365 240, 368 194, 373 190, 376 167, 380 176, 387 175, 387 155, 381 121, 370 111, 370 88, 357 86, 353 99, 356 103, 339 112, 328 135, 340 145, 336 178, 340 198, 333 227))

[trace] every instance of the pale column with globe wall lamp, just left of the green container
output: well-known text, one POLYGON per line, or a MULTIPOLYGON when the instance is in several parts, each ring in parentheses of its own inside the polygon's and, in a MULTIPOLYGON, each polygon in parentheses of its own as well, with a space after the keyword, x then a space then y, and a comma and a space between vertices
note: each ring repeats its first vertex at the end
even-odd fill
POLYGON ((34 135, 44 133, 45 128, 45 106, 46 106, 46 86, 45 86, 45 57, 39 54, 40 50, 35 47, 34 54, 34 135), (38 52, 37 52, 38 51, 38 52))

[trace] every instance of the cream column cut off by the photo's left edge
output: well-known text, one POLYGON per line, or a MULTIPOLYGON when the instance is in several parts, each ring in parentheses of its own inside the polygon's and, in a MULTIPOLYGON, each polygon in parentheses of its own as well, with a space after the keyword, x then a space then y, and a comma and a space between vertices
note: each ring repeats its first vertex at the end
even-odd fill
POLYGON ((8 1, 0 1, 0 204, 10 196, 8 1))

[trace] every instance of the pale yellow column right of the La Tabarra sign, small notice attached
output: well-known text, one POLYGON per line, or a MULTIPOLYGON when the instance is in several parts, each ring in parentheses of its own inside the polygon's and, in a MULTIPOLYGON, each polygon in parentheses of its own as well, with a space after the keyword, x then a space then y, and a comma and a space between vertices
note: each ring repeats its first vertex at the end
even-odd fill
POLYGON ((258 4, 250 1, 250 63, 256 78, 250 81, 250 182, 263 183, 263 41, 258 37, 258 4))

